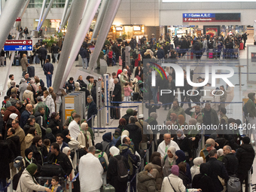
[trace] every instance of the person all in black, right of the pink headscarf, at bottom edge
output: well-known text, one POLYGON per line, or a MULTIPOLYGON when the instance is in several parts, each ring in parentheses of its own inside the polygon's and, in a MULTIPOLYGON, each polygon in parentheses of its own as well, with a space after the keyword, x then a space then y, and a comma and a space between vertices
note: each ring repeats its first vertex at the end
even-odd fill
POLYGON ((200 174, 194 175, 192 187, 200 188, 203 192, 216 192, 212 178, 209 177, 209 167, 206 163, 200 165, 200 174))

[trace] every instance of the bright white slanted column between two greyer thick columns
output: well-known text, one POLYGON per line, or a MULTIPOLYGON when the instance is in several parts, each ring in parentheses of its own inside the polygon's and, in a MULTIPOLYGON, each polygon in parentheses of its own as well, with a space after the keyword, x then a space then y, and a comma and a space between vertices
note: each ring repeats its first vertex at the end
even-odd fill
POLYGON ((62 88, 62 85, 65 83, 66 79, 69 76, 69 72, 72 69, 72 66, 75 62, 75 58, 78 55, 78 52, 81 48, 81 44, 83 43, 84 38, 87 35, 87 31, 90 28, 90 23, 92 23, 93 17, 96 14, 100 1, 101 0, 89 0, 88 2, 87 10, 85 11, 83 20, 81 21, 81 25, 79 26, 78 33, 75 37, 75 41, 70 52, 68 64, 66 66, 66 70, 63 75, 59 89, 62 88))

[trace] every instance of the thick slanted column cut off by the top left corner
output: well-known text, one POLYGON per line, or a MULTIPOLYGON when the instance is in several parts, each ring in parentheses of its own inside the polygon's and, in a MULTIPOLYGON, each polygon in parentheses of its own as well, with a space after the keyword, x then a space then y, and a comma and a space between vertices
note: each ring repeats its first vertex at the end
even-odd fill
POLYGON ((0 48, 5 44, 6 39, 8 38, 11 28, 14 26, 14 23, 20 14, 20 9, 23 8, 26 0, 8 0, 5 3, 4 11, 0 16, 0 48))

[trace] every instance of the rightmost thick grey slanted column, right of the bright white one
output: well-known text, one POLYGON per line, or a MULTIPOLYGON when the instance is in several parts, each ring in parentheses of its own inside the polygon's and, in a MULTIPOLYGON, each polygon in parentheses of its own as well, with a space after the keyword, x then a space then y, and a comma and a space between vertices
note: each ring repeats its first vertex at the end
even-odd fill
POLYGON ((92 73, 94 70, 94 66, 96 66, 96 61, 99 57, 99 53, 102 50, 102 47, 105 42, 105 38, 108 35, 109 29, 113 23, 114 17, 117 14, 117 10, 119 8, 121 0, 117 1, 109 1, 108 7, 105 12, 105 16, 102 20, 102 26, 99 30, 99 35, 96 41, 96 46, 93 50, 93 55, 90 58, 89 62, 89 72, 92 73))

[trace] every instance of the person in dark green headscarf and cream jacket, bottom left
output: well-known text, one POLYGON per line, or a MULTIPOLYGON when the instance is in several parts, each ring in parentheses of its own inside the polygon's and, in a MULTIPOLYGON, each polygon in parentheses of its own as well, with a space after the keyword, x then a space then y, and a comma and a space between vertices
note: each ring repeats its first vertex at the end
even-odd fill
POLYGON ((38 166, 36 166, 35 163, 31 163, 26 167, 23 174, 20 176, 20 181, 17 185, 17 192, 33 192, 34 190, 51 192, 49 188, 39 185, 35 180, 34 175, 37 170, 38 166))

